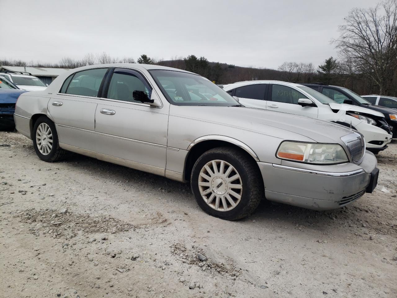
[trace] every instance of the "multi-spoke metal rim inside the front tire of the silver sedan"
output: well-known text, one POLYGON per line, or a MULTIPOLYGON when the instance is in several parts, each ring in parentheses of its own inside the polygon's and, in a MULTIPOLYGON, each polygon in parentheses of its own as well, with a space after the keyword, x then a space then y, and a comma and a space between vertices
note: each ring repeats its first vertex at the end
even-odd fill
POLYGON ((198 176, 198 190, 212 209, 229 211, 240 202, 243 183, 231 164, 217 159, 202 167, 198 176))

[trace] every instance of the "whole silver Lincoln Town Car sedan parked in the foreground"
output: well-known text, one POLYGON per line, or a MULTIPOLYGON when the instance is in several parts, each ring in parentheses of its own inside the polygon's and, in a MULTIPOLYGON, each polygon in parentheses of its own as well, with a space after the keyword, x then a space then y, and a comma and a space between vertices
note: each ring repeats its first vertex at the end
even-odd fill
POLYGON ((356 131, 247 108, 200 75, 156 65, 65 72, 21 94, 14 120, 43 161, 73 151, 190 182, 198 205, 228 220, 250 215, 264 198, 346 206, 374 190, 379 172, 356 131))

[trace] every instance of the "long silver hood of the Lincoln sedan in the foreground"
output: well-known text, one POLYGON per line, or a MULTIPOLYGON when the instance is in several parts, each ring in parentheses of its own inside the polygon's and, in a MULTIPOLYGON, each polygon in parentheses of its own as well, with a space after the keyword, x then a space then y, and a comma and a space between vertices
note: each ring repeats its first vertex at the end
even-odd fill
MULTIPOLYGON (((237 106, 172 106, 170 115, 192 118, 243 130, 271 135, 280 139, 292 132, 318 143, 341 143, 341 137, 351 131, 345 126, 331 122, 259 108, 237 106), (326 133, 324 133, 326 132, 326 133)), ((297 140, 302 137, 297 137, 297 140)))

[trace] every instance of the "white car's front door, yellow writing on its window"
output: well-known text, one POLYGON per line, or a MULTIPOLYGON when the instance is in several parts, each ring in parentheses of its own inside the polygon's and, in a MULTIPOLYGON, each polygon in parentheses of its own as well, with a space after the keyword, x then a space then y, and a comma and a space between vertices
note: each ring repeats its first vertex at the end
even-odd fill
POLYGON ((308 97, 289 86, 270 84, 267 95, 267 109, 317 118, 318 107, 299 105, 298 99, 301 98, 308 97))

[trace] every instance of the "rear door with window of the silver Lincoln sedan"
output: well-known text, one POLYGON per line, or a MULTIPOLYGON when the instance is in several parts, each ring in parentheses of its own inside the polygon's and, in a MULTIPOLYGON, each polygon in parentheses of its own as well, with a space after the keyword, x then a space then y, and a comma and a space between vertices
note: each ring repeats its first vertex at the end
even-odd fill
POLYGON ((108 68, 83 70, 70 75, 48 102, 60 143, 95 151, 95 109, 108 68))

